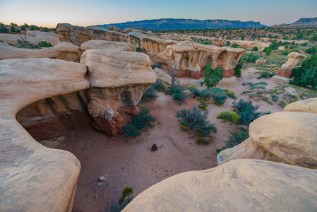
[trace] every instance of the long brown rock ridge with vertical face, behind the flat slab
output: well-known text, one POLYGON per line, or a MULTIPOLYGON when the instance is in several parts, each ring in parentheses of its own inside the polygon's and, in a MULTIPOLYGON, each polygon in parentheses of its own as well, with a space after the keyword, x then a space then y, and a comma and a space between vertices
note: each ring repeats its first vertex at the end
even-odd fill
POLYGON ((118 33, 112 30, 97 27, 78 27, 68 23, 59 23, 56 26, 57 33, 64 42, 72 42, 74 45, 82 45, 88 40, 108 40, 116 42, 128 42, 140 47, 147 52, 163 52, 168 45, 175 45, 175 40, 163 40, 158 37, 150 37, 140 30, 132 30, 130 33, 118 33), (141 33, 140 33, 140 32, 141 33), (140 34, 138 34, 140 33, 140 34))

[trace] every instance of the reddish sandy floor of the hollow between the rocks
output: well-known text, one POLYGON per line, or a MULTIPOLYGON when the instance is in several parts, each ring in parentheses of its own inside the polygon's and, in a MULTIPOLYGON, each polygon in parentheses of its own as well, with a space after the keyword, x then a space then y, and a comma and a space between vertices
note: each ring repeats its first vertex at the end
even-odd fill
MULTIPOLYGON (((239 86, 228 88, 237 95, 238 100, 249 99, 247 95, 240 95, 248 90, 247 86, 241 85, 243 81, 266 81, 267 89, 277 86, 268 79, 257 80, 255 71, 258 70, 244 70, 238 79, 239 86)), ((224 147, 223 141, 230 136, 229 131, 237 129, 235 124, 217 119, 217 114, 232 110, 233 101, 227 98, 222 107, 208 105, 208 120, 216 124, 217 133, 213 134, 213 142, 206 146, 199 146, 191 134, 181 131, 174 117, 177 110, 199 105, 198 100, 189 98, 185 104, 178 105, 171 96, 164 93, 160 93, 157 100, 138 105, 140 108, 148 107, 157 122, 154 129, 135 139, 127 140, 124 135, 107 136, 93 129, 90 122, 69 132, 65 135, 63 149, 76 155, 81 163, 73 211, 104 211, 111 201, 118 201, 125 187, 133 188, 133 196, 136 196, 152 184, 172 175, 215 166, 216 148, 224 147), (150 150, 153 143, 158 147, 154 152, 150 150), (106 179, 98 185, 98 177, 102 175, 106 179)), ((262 100, 253 102, 255 104, 261 105, 259 111, 262 112, 282 111, 279 105, 270 105, 262 100)))

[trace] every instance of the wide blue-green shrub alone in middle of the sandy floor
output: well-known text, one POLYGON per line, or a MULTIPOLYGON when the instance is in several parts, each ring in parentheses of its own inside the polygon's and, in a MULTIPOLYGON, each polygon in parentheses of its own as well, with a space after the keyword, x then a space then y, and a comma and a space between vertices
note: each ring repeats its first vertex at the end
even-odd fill
POLYGON ((201 109, 194 106, 191 109, 177 110, 175 117, 177 117, 179 124, 186 126, 195 132, 198 136, 205 137, 211 132, 216 132, 215 124, 210 124, 207 121, 208 112, 203 112, 201 109))

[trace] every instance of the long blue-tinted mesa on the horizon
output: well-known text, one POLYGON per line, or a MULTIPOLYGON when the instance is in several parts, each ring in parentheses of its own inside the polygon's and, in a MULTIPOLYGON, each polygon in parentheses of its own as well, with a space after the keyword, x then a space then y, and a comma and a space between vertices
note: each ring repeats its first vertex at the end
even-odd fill
POLYGON ((181 29, 214 29, 214 28, 261 28, 266 27, 260 22, 240 21, 240 20, 193 20, 161 18, 154 20, 128 21, 125 23, 112 23, 98 25, 107 28, 114 25, 121 30, 125 28, 135 28, 140 30, 181 30, 181 29))

